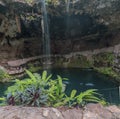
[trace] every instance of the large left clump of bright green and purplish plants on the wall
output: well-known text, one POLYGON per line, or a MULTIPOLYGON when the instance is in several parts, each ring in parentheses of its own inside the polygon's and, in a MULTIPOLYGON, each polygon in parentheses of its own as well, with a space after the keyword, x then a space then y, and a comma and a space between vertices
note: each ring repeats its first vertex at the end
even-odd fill
POLYGON ((6 102, 10 105, 55 105, 64 96, 62 78, 57 77, 51 80, 52 75, 47 75, 44 71, 42 75, 32 74, 26 70, 30 78, 16 80, 13 86, 8 87, 6 91, 6 102), (51 101, 52 100, 52 101, 51 101), (51 103, 52 102, 52 103, 51 103))

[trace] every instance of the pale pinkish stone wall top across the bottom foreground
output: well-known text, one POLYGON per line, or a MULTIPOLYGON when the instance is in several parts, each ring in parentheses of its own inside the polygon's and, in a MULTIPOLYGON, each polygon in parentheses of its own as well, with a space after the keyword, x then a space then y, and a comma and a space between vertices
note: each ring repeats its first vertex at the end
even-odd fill
POLYGON ((120 108, 88 104, 77 108, 0 107, 0 119, 120 119, 120 108))

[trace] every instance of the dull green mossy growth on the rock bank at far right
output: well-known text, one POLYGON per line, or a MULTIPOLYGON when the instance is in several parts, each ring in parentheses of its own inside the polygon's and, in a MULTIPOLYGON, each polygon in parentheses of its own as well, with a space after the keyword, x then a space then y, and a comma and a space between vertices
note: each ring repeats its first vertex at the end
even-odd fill
POLYGON ((115 58, 113 53, 111 52, 100 53, 94 55, 93 58, 94 69, 97 72, 116 78, 116 80, 119 80, 119 74, 112 68, 115 58))

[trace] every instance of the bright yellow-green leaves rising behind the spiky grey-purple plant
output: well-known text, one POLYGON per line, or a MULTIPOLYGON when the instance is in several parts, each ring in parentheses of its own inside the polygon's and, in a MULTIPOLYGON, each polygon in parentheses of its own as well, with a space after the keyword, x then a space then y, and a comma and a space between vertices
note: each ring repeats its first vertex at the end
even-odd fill
POLYGON ((42 76, 35 73, 32 74, 30 71, 26 70, 26 73, 29 75, 29 78, 26 78, 24 80, 15 80, 15 84, 13 86, 8 87, 8 90, 6 91, 6 94, 11 93, 12 95, 15 94, 16 91, 24 92, 25 89, 29 86, 34 87, 47 87, 48 86, 48 80, 50 80, 52 75, 49 75, 48 77, 47 72, 44 71, 42 76))

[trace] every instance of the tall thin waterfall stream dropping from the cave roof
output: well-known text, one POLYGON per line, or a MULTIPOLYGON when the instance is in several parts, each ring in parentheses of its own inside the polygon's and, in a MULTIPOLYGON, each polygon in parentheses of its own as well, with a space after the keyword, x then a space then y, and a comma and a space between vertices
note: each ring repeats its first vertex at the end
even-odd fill
POLYGON ((50 58, 50 34, 49 34, 49 25, 48 25, 48 15, 46 10, 45 0, 41 1, 42 3, 42 39, 43 39, 43 68, 50 68, 51 58, 50 58))

